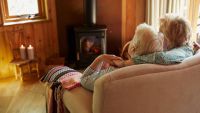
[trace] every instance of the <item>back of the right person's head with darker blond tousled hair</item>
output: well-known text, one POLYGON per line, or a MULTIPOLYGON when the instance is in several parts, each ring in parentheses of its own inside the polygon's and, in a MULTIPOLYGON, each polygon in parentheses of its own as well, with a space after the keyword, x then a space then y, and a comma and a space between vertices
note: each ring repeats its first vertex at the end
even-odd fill
POLYGON ((192 33, 189 21, 174 14, 167 14, 160 19, 159 30, 165 36, 167 49, 185 45, 189 42, 192 33))

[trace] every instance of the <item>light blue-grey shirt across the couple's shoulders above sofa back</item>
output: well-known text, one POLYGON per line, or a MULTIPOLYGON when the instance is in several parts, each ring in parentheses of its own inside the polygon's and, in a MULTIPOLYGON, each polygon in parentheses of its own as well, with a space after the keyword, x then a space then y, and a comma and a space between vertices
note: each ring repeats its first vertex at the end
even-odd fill
POLYGON ((193 56, 193 50, 189 46, 182 46, 165 52, 155 52, 148 55, 136 56, 132 58, 135 64, 176 64, 182 62, 185 58, 193 56))

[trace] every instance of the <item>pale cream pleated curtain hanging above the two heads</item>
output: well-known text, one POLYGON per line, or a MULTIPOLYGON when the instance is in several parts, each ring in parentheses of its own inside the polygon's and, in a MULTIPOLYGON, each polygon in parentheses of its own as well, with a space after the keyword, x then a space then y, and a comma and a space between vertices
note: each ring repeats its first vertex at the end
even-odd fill
POLYGON ((174 13, 187 17, 188 1, 189 0, 147 0, 146 23, 158 30, 159 19, 166 13, 174 13))

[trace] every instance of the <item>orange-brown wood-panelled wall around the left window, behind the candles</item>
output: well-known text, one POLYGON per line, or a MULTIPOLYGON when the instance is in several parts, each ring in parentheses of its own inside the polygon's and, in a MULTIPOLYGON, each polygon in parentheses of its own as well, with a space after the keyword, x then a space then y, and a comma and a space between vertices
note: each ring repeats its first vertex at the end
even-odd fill
POLYGON ((0 78, 13 76, 9 63, 12 49, 21 44, 33 45, 40 69, 44 69, 46 58, 59 54, 55 0, 48 0, 48 12, 50 19, 46 22, 0 27, 0 78))

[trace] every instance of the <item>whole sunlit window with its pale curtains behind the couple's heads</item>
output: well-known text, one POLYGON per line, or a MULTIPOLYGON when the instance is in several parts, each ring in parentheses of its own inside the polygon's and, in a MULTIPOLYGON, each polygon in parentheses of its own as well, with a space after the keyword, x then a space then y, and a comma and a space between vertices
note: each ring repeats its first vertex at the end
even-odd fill
POLYGON ((200 0, 147 0, 146 22, 157 30, 159 18, 166 13, 175 13, 187 18, 192 27, 191 42, 199 37, 200 43, 200 0), (198 23, 197 23, 198 22, 198 23), (198 34, 197 34, 198 32, 198 34))

